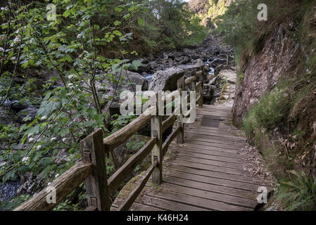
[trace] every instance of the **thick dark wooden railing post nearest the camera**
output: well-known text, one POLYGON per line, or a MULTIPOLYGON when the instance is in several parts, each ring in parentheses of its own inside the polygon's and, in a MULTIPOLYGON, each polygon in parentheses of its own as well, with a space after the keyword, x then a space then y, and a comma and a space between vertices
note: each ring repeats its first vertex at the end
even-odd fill
POLYGON ((80 141, 80 148, 82 161, 94 165, 93 173, 85 180, 88 207, 99 211, 110 211, 102 130, 99 129, 80 141))

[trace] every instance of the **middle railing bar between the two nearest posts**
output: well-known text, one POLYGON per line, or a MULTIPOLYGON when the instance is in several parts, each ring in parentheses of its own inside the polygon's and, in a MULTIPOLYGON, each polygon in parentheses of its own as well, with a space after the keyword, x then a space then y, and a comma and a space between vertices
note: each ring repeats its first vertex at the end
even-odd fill
POLYGON ((151 153, 151 149, 156 144, 156 137, 151 138, 145 146, 143 146, 136 154, 125 162, 120 169, 118 169, 110 178, 108 179, 108 192, 110 195, 115 193, 122 181, 132 173, 133 169, 139 165, 139 163, 146 158, 146 156, 151 153))

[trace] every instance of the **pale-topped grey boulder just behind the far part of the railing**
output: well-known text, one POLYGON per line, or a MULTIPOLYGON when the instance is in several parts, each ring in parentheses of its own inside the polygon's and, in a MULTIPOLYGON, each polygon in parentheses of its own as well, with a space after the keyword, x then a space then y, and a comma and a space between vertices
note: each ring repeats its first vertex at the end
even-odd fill
POLYGON ((184 75, 181 68, 169 68, 155 72, 149 84, 151 91, 175 91, 177 90, 177 80, 184 75))

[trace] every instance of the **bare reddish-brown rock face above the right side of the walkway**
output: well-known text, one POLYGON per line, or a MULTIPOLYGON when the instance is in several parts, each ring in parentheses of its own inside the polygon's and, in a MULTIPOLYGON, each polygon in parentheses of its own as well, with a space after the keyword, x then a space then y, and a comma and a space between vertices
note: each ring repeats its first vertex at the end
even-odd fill
POLYGON ((258 54, 250 56, 236 88, 233 117, 240 126, 246 113, 260 98, 274 89, 282 77, 298 75, 303 49, 293 39, 293 22, 277 25, 266 39, 261 40, 258 54))

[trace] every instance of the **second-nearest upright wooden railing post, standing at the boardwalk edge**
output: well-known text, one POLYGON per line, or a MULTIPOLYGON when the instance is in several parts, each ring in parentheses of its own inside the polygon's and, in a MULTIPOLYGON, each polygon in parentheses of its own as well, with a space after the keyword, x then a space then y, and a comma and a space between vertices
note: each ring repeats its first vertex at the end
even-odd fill
POLYGON ((158 115, 158 97, 156 95, 156 115, 151 118, 151 137, 156 137, 157 141, 153 150, 151 150, 151 165, 158 161, 158 167, 153 169, 153 183, 161 184, 163 182, 163 117, 158 115))

